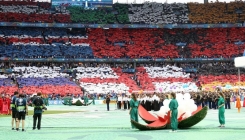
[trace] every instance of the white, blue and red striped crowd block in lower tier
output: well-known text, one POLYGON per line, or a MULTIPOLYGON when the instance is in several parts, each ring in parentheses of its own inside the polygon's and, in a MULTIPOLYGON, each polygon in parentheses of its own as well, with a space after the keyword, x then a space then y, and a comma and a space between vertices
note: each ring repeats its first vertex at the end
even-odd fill
POLYGON ((20 92, 27 94, 42 92, 44 94, 67 93, 80 94, 81 89, 70 81, 66 73, 60 73, 60 67, 14 67, 20 92))

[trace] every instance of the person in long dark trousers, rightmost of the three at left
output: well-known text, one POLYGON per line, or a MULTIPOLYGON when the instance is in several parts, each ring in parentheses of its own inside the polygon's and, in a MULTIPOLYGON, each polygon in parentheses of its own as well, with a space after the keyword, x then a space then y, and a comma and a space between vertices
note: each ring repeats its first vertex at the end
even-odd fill
POLYGON ((37 93, 37 97, 33 100, 32 106, 34 107, 33 130, 36 129, 37 119, 37 129, 40 130, 43 109, 47 110, 47 108, 44 105, 43 99, 41 98, 41 93, 37 93))

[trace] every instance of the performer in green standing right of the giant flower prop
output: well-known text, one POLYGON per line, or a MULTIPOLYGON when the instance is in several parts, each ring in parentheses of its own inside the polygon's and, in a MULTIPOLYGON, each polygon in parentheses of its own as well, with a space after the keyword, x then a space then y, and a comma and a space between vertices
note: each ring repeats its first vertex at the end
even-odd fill
POLYGON ((219 108, 219 127, 225 127, 225 98, 223 93, 219 93, 219 101, 218 101, 218 108, 219 108))

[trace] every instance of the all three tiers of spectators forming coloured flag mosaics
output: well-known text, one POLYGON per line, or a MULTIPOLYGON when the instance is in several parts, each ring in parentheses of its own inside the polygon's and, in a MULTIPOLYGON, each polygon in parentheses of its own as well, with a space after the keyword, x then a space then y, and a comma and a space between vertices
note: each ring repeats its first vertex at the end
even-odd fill
MULTIPOLYGON (((48 3, 0 1, 0 21, 88 24, 237 23, 245 20, 244 3, 114 4, 85 9, 52 9, 48 3), (217 12, 217 11, 221 12, 217 12), (209 11, 209 12, 206 12, 209 11)), ((20 23, 21 24, 21 23, 20 23)), ((93 29, 0 27, 2 58, 234 58, 245 50, 244 28, 93 29)), ((115 65, 115 64, 114 64, 115 65)), ((137 67, 12 66, 1 69, 0 92, 80 94, 118 91, 196 91, 238 86, 233 63, 177 63, 137 67), (177 66, 178 65, 178 66, 177 66), (74 71, 75 74, 73 73, 74 71), (134 73, 135 72, 135 73, 134 73), (188 72, 188 73, 187 73, 188 72), (72 74, 71 74, 72 73, 72 74), (72 75, 72 76, 71 76, 72 75), (13 78, 14 77, 14 78, 13 78), (71 78, 72 77, 72 78, 71 78), (72 80, 78 80, 76 83, 72 80)), ((244 69, 241 81, 245 80, 244 69)), ((240 83, 245 87, 245 83, 240 83)))

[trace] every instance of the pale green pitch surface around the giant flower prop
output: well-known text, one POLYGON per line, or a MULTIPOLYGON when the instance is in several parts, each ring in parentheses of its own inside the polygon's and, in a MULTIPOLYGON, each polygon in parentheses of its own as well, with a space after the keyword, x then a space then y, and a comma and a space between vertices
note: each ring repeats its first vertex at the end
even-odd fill
MULTIPOLYGON (((32 109, 32 108, 30 108, 32 109)), ((1 140, 245 140, 245 108, 226 110, 226 127, 218 128, 218 111, 208 110, 206 118, 189 129, 139 131, 131 129, 129 111, 115 105, 48 106, 41 130, 32 130, 32 115, 26 117, 26 131, 11 130, 11 117, 0 117, 1 140), (49 113, 48 113, 49 112, 49 113)), ((142 120, 140 123, 145 124, 142 120)))

